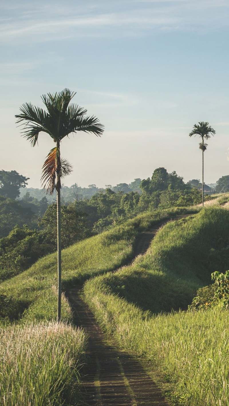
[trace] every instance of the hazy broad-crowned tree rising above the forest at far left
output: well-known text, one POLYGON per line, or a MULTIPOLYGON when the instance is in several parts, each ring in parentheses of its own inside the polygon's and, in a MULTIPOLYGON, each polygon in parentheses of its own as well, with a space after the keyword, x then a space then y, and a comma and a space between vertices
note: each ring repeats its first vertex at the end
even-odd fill
POLYGON ((0 194, 10 199, 16 199, 19 197, 20 188, 28 185, 28 179, 16 171, 0 171, 0 194))

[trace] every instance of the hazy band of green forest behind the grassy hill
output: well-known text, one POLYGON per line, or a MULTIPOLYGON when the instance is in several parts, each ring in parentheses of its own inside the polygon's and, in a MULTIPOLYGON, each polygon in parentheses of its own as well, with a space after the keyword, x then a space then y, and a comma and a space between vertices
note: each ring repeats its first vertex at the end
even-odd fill
MULTIPOLYGON (((27 188, 28 179, 16 171, 0 171, 0 281, 56 251, 56 194, 27 188)), ((62 248, 147 210, 201 203, 200 188, 199 179, 185 183, 163 167, 147 179, 106 189, 62 186, 62 248)), ((229 192, 229 176, 217 181, 215 191, 229 192)))

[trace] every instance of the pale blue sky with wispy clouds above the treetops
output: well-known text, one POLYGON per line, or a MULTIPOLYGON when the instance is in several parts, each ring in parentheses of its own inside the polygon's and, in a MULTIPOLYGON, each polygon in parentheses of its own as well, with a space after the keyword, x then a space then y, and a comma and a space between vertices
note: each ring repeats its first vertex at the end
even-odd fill
POLYGON ((61 143, 73 166, 65 186, 115 186, 163 166, 205 183, 229 174, 228 0, 49 0, 0 2, 0 170, 41 187, 53 147, 45 133, 32 148, 15 123, 25 102, 65 88, 105 126, 101 138, 78 132, 61 143))

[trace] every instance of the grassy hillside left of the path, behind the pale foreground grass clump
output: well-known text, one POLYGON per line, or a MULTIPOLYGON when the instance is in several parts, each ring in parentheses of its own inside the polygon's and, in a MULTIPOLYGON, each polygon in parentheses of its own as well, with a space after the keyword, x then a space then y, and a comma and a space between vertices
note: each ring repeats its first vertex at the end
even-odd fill
MULTIPOLYGON (((98 274, 115 270, 133 257, 140 232, 151 225, 193 208, 178 208, 146 213, 95 237, 81 241, 62 252, 62 281, 65 289, 98 274)), ((0 299, 5 303, 2 317, 25 322, 56 318, 56 253, 41 258, 28 270, 0 284, 0 299)), ((71 310, 63 302, 63 320, 71 320, 71 310)))

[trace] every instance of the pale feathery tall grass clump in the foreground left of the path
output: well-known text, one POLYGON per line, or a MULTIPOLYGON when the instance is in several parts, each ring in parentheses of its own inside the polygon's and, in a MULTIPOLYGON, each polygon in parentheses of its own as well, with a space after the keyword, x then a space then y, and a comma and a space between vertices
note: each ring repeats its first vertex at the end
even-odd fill
POLYGON ((0 404, 76 404, 84 350, 84 333, 64 323, 0 328, 0 404))

